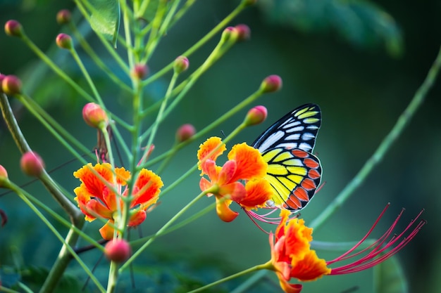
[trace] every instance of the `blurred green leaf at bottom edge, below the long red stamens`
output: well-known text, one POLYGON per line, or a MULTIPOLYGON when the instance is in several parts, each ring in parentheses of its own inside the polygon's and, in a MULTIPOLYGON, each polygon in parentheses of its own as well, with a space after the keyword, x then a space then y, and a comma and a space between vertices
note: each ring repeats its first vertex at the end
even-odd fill
POLYGON ((397 256, 392 256, 373 268, 375 293, 408 293, 409 286, 397 256))

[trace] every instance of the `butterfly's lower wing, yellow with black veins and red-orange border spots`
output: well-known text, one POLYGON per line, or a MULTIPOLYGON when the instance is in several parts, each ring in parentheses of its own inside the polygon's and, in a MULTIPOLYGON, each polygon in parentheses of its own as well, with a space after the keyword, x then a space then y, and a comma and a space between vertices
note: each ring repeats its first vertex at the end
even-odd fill
POLYGON ((299 211, 311 200, 321 180, 321 164, 310 152, 294 148, 272 148, 262 154, 268 163, 265 176, 274 195, 270 207, 299 211))

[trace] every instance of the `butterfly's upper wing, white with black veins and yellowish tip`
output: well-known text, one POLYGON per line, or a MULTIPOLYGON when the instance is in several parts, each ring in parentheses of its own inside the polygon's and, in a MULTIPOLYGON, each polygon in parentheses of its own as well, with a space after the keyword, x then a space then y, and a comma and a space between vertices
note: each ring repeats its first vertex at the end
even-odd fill
POLYGON ((318 105, 301 105, 266 129, 252 146, 261 153, 280 147, 311 152, 320 126, 321 111, 318 105))

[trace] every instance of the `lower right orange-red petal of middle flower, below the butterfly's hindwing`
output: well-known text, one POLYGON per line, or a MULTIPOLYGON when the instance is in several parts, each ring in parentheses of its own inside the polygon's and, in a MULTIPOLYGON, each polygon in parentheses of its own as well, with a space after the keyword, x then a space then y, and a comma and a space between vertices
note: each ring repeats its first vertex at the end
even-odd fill
POLYGON ((245 190, 247 195, 245 195, 243 200, 237 202, 245 209, 264 207, 265 203, 273 197, 273 188, 265 179, 248 181, 245 184, 245 190))

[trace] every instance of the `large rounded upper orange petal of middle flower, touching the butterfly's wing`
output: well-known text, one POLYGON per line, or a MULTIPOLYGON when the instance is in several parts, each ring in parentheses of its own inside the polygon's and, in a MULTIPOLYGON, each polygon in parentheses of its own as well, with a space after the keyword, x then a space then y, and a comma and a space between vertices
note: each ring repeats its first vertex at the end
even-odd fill
POLYGON ((254 180, 266 175, 268 164, 263 160, 259 150, 246 143, 234 145, 228 153, 228 159, 235 160, 237 164, 237 171, 232 181, 254 180))

